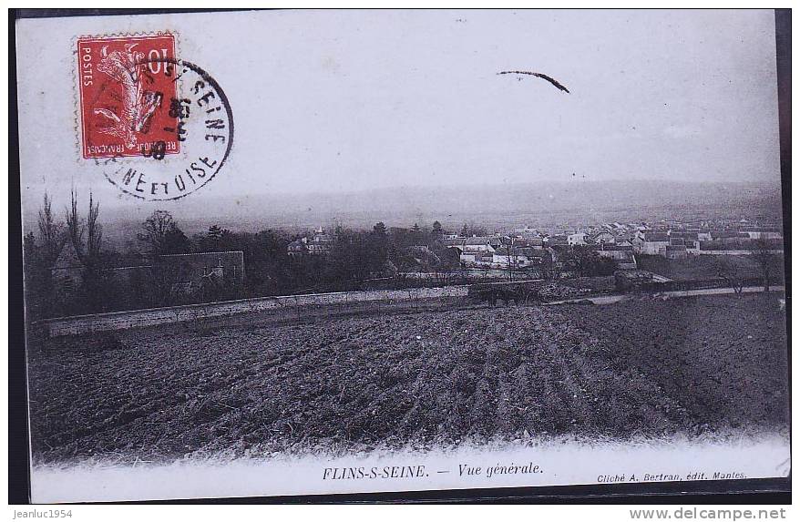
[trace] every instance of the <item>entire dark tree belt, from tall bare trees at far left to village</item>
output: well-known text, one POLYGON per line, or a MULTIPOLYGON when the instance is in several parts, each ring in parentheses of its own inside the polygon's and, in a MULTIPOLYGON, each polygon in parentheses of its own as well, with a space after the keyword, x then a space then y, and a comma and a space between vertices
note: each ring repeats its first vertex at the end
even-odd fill
MULTIPOLYGON (((202 233, 187 235, 166 210, 154 211, 141 223, 136 234, 138 248, 116 251, 103 241, 100 207, 89 193, 82 213, 77 194, 71 193, 61 219, 45 195, 38 214, 38 234, 26 236, 26 298, 34 316, 106 312, 172 304, 169 281, 148 277, 146 271, 129 269, 152 264, 160 255, 209 252, 244 252, 245 278, 235 292, 223 297, 253 297, 296 292, 334 292, 362 288, 369 284, 403 284, 398 272, 456 271, 461 268, 457 251, 446 248, 445 231, 435 221, 430 228, 414 224, 409 228, 387 228, 375 223, 372 230, 342 226, 331 231, 326 255, 290 256, 287 247, 303 237, 282 230, 257 233, 234 232, 214 224, 202 233), (59 252, 71 243, 82 265, 80 284, 60 292, 51 271, 59 252), (120 267, 123 271, 114 270, 120 267), (377 280, 377 281, 376 281, 377 280)), ((464 225, 463 236, 485 235, 481 227, 464 225)), ((580 275, 608 275, 615 263, 595 252, 576 249, 566 258, 565 270, 580 275)), ((220 296, 200 294, 195 299, 220 296)))

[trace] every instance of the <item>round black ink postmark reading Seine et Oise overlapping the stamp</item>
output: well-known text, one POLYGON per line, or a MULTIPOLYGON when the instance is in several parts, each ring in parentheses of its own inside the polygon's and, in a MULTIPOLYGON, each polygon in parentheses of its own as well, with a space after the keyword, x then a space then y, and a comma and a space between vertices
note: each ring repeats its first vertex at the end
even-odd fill
POLYGON ((118 189, 143 200, 178 200, 209 184, 233 146, 231 104, 220 84, 177 58, 145 57, 126 67, 118 101, 138 141, 95 163, 118 189))

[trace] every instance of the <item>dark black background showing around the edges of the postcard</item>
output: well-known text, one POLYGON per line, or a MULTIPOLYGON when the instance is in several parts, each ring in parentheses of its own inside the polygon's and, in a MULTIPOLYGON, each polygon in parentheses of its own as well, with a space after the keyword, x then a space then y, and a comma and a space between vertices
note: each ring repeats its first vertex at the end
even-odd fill
MULTIPOLYGON (((30 17, 179 13, 194 9, 9 9, 8 17, 8 502, 30 503, 27 429, 25 310, 23 302, 22 222, 20 208, 19 136, 16 111, 15 20, 30 17)), ((204 10, 208 11, 208 10, 204 10)), ((791 328, 791 172, 792 172, 792 11, 775 10, 781 181, 784 207, 786 325, 791 328)), ((788 349, 787 346, 787 349, 788 349)), ((791 350, 789 350, 791 368, 791 350)), ((789 376, 791 390, 791 375, 789 376)), ((791 394, 790 394, 791 400, 791 394)), ((791 504, 791 476, 741 481, 702 481, 639 485, 551 486, 465 489, 324 496, 272 496, 174 500, 167 504, 459 502, 531 504, 791 504)))

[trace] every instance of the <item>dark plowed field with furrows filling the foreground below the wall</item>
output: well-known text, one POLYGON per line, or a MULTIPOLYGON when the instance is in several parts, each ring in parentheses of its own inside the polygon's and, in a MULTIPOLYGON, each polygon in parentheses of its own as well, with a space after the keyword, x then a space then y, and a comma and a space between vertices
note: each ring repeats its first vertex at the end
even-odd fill
POLYGON ((787 423, 776 295, 38 341, 36 461, 658 437, 787 423))

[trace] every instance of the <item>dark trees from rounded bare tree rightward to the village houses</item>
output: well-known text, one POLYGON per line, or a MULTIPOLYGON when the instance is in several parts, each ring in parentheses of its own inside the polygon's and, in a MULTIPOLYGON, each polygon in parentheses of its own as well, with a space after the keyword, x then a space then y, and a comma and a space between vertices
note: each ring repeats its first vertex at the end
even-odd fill
POLYGON ((372 230, 336 227, 324 256, 290 256, 288 246, 302 235, 281 230, 233 232, 211 225, 187 237, 168 212, 157 211, 143 224, 139 240, 155 254, 208 251, 244 252, 247 296, 292 292, 353 290, 367 280, 392 277, 398 270, 454 270, 458 257, 441 241, 441 225, 387 229, 378 222, 372 230), (410 247, 425 247, 411 250, 410 247))

